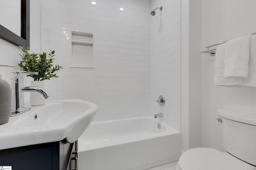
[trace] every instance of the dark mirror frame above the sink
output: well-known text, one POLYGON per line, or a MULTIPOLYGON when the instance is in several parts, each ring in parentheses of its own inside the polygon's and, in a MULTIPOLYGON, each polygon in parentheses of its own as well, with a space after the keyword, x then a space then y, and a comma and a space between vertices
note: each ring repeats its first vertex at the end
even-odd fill
POLYGON ((29 47, 30 0, 21 0, 20 36, 0 25, 0 38, 17 46, 29 47))

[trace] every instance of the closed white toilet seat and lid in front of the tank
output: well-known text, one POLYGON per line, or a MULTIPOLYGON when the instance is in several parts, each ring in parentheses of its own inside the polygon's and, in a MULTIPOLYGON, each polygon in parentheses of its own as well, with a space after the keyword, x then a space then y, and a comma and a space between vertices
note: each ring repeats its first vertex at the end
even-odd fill
POLYGON ((212 148, 194 148, 180 156, 177 170, 256 170, 228 152, 212 148))

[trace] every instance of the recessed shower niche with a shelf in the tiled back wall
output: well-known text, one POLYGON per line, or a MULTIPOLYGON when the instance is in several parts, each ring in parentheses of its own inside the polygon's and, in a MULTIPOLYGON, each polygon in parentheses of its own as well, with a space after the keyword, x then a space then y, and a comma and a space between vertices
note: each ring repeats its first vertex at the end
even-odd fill
POLYGON ((93 57, 93 35, 72 31, 72 54, 70 67, 95 68, 93 57))

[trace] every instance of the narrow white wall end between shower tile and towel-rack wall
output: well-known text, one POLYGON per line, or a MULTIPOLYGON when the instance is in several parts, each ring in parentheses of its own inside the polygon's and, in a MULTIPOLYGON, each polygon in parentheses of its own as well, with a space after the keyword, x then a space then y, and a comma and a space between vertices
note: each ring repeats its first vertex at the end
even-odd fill
POLYGON ((182 0, 182 147, 201 147, 201 0, 182 0))

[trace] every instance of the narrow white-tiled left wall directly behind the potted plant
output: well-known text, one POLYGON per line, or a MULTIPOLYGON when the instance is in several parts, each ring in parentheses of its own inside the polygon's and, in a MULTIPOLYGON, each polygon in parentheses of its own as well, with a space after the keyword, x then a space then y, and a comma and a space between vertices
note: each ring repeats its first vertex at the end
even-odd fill
MULTIPOLYGON (((54 65, 62 65, 62 48, 60 48, 60 0, 42 0, 41 2, 41 51, 49 53, 49 49, 55 50, 54 65)), ((30 7, 33 8, 33 7, 30 7)), ((33 15, 33 14, 31 14, 33 15)), ((39 53, 39 51, 34 51, 39 53)), ((64 70, 64 69, 63 69, 64 70)), ((45 90, 51 95, 49 100, 61 98, 61 74, 56 72, 59 78, 45 80, 45 90)))

